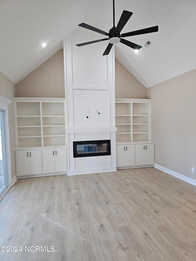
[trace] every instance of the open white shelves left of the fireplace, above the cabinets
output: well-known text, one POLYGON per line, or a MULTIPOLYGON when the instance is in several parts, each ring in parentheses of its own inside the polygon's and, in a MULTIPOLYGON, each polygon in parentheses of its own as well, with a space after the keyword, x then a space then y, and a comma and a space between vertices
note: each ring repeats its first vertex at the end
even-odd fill
POLYGON ((17 147, 66 145, 65 99, 14 98, 17 147))

